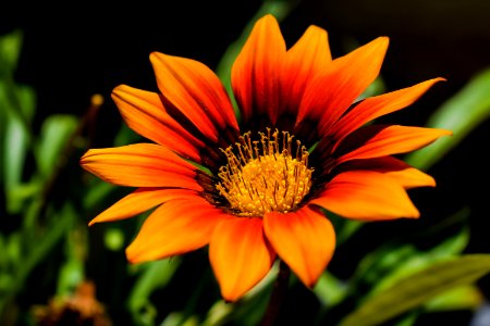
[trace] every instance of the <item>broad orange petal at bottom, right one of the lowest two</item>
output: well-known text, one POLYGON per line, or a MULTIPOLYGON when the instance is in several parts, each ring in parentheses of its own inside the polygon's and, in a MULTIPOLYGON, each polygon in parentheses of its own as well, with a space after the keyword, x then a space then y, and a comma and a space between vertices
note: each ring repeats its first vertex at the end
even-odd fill
POLYGON ((313 287, 335 249, 335 231, 330 221, 305 206, 287 214, 266 214, 264 229, 278 255, 307 287, 313 287))

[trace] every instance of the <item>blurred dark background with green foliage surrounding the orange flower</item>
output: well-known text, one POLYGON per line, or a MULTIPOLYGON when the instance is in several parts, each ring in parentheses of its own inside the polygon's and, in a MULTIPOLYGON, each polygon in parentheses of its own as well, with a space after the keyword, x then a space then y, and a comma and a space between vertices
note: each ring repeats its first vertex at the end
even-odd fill
MULTIPOLYGON (((223 72, 250 22, 266 12, 277 15, 289 46, 309 25, 323 27, 334 58, 389 36, 372 93, 433 77, 448 80, 383 120, 455 134, 405 158, 438 183, 409 192, 420 220, 335 221, 339 248, 328 272, 315 290, 293 277, 278 325, 336 325, 348 315, 354 317, 345 325, 367 325, 348 324, 357 308, 390 286, 403 288, 403 277, 425 279, 434 263, 461 273, 451 278, 454 284, 427 298, 414 294, 413 302, 404 297, 400 310, 372 325, 490 325, 485 322, 490 296, 486 0, 5 4, 0 11, 0 325, 78 325, 73 321, 84 314, 93 324, 79 325, 257 325, 271 279, 243 302, 224 304, 205 250, 130 265, 124 248, 145 216, 88 227, 130 189, 87 175, 78 159, 88 148, 138 140, 122 124, 110 93, 120 84, 157 89, 151 51, 223 72), (480 265, 466 264, 468 254, 482 254, 480 265)), ((418 293, 426 291, 427 285, 415 284, 418 293)), ((402 300, 396 293, 387 298, 402 300)))

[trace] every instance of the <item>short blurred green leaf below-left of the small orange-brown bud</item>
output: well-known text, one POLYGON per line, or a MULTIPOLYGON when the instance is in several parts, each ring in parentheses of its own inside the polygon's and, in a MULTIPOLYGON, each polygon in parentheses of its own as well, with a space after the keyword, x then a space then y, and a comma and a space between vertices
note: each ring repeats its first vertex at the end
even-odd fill
POLYGON ((53 114, 41 126, 40 143, 36 159, 40 174, 46 178, 68 158, 63 153, 68 141, 78 125, 76 116, 53 114))

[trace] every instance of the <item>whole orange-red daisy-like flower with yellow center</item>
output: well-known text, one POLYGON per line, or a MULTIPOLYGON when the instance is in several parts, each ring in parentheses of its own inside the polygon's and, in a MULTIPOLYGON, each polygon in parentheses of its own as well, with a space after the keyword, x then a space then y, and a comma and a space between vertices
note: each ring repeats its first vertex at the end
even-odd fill
POLYGON ((290 49, 275 18, 257 21, 231 83, 197 61, 150 54, 158 92, 121 85, 112 98, 151 143, 90 149, 82 166, 136 188, 90 224, 154 212, 126 249, 138 263, 209 246, 226 301, 243 297, 279 258, 314 287, 335 233, 324 212, 359 221, 416 218, 406 190, 433 178, 394 158, 451 131, 370 122, 416 101, 434 78, 357 100, 377 78, 389 39, 332 60, 310 26, 290 49))

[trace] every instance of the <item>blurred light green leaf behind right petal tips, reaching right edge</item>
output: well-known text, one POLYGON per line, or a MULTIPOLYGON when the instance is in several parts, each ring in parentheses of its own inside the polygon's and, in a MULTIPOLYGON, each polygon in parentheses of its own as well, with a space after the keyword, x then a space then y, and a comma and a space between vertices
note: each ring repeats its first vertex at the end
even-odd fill
POLYGON ((428 127, 444 128, 453 136, 406 155, 405 161, 428 170, 490 116, 490 68, 480 72, 456 95, 444 102, 427 122, 428 127))

